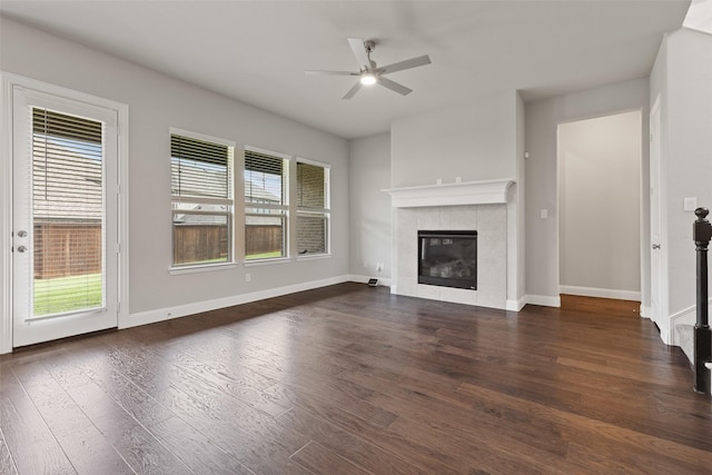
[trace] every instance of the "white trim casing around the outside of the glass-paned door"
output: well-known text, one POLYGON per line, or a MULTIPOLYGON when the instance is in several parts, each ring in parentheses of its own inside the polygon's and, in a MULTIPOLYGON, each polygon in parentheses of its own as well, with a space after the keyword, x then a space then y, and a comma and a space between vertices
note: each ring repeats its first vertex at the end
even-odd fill
POLYGON ((12 352, 12 281, 11 281, 11 239, 12 230, 12 89, 18 86, 26 89, 37 90, 42 93, 58 96, 75 101, 86 102, 106 109, 115 110, 117 113, 117 225, 118 225, 118 281, 117 298, 119 306, 117 310, 117 325, 121 327, 123 320, 128 319, 129 308, 129 107, 126 103, 111 99, 89 95, 73 89, 56 86, 37 79, 0 71, 2 95, 0 96, 0 109, 4 111, 0 117, 0 142, 4 147, 0 149, 0 247, 3 256, 0 259, 0 354, 12 352))

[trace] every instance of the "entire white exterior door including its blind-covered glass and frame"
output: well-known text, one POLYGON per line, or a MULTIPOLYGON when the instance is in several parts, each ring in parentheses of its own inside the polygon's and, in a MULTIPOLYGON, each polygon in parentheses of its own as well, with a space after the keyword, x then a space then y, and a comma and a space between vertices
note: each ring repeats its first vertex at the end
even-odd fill
POLYGON ((125 106, 27 81, 3 80, 11 98, 3 132, 12 144, 3 210, 12 216, 11 305, 3 326, 12 334, 0 353, 117 327, 126 263, 118 133, 125 106))

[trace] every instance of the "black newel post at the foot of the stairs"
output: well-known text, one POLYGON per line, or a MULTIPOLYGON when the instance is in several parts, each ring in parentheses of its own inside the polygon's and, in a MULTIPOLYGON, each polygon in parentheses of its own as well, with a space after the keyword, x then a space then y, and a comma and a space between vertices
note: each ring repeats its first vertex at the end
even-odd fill
POLYGON ((712 224, 705 218, 706 208, 694 210, 698 219, 692 225, 692 238, 698 253, 698 320, 694 325, 694 390, 710 394, 710 369, 705 364, 712 359, 712 330, 709 320, 708 297, 708 247, 712 239, 712 224))

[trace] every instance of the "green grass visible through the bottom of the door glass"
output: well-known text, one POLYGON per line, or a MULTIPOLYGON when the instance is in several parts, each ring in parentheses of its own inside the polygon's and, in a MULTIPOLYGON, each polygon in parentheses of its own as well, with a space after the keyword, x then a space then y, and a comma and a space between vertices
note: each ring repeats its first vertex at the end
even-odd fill
POLYGON ((101 307, 101 274, 34 280, 34 316, 101 307))

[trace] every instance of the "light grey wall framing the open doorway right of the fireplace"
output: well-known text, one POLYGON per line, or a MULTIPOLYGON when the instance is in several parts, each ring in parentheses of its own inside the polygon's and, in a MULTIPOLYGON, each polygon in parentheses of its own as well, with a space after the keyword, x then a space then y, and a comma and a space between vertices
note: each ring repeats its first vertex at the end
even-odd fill
MULTIPOLYGON (((534 300, 554 304, 558 299, 558 198, 556 129, 560 123, 641 110, 649 116, 647 79, 555 97, 526 105, 526 293, 534 300), (546 209, 548 218, 541 218, 546 209)), ((649 189, 647 120, 643 121, 641 188, 649 189)), ((650 248, 650 207, 641 201, 641 247, 650 248)), ((642 265, 642 307, 650 306, 650 258, 642 265)))

